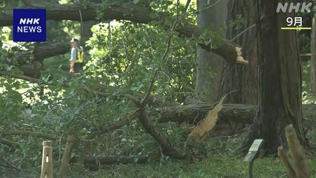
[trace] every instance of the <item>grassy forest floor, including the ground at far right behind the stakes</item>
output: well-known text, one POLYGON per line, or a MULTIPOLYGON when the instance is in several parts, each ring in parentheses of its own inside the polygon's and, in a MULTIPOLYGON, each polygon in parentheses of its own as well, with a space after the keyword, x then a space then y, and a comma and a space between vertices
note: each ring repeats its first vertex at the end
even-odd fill
MULTIPOLYGON (((304 126, 308 129, 307 137, 314 147, 308 151, 308 166, 311 178, 316 178, 316 104, 303 104, 303 109, 304 126)), ((146 164, 101 165, 98 171, 86 170, 83 175, 67 178, 247 178, 247 163, 242 162, 243 155, 234 151, 244 137, 245 134, 210 138, 210 151, 193 163, 160 159, 146 164)), ((13 177, 35 178, 26 175, 24 173, 23 176, 13 177)), ((256 159, 253 175, 255 178, 287 178, 282 163, 275 156, 256 159)))

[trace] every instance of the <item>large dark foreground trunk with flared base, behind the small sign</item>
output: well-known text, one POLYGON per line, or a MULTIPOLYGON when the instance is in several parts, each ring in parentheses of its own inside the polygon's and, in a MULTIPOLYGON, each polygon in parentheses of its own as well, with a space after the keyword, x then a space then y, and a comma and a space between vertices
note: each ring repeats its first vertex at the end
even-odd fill
MULTIPOLYGON (((280 30, 286 17, 276 13, 282 0, 258 0, 257 40, 259 64, 259 112, 243 148, 254 138, 265 140, 266 154, 286 145, 285 126, 292 124, 302 145, 307 145, 302 125, 302 74, 295 30, 280 30)), ((288 0, 287 2, 293 2, 288 0)))

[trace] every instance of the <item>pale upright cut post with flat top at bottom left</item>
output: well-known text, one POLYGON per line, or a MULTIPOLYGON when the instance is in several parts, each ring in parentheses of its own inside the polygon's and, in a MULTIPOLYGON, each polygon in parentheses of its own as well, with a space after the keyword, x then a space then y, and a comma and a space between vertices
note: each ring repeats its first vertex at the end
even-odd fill
POLYGON ((43 141, 40 178, 53 178, 53 148, 51 141, 43 141))

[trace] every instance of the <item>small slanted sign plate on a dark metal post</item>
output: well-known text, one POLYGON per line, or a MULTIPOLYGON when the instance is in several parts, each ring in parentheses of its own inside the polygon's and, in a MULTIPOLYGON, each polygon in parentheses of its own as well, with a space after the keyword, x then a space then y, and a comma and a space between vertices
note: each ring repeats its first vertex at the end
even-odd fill
POLYGON ((252 165, 253 165, 254 160, 256 159, 256 155, 257 155, 258 150, 262 146, 263 141, 264 141, 263 139, 255 139, 253 141, 247 155, 243 159, 243 162, 249 163, 249 166, 248 166, 248 177, 249 178, 252 178, 252 165))

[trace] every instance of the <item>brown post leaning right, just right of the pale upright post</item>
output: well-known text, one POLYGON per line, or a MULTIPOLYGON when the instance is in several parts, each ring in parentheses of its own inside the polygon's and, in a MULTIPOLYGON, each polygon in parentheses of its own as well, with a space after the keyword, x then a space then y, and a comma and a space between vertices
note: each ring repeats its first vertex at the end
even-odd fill
POLYGON ((68 135, 67 144, 65 146, 63 158, 61 159, 61 165, 59 167, 59 174, 62 176, 67 174, 68 162, 71 158, 71 151, 73 150, 73 147, 75 145, 75 139, 75 134, 68 135))

